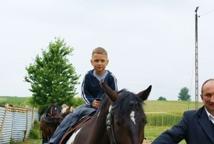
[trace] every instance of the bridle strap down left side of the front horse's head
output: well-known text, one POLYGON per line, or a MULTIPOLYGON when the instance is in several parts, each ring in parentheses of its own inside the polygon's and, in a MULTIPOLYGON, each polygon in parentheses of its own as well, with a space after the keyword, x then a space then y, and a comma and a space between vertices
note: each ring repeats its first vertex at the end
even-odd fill
POLYGON ((112 109, 114 107, 112 107, 112 105, 110 105, 110 107, 109 107, 109 111, 108 111, 108 114, 106 117, 106 129, 107 129, 107 133, 108 133, 108 136, 110 139, 110 143, 111 144, 118 144, 116 136, 115 136, 115 132, 114 132, 114 126, 113 126, 113 111, 112 111, 112 109))

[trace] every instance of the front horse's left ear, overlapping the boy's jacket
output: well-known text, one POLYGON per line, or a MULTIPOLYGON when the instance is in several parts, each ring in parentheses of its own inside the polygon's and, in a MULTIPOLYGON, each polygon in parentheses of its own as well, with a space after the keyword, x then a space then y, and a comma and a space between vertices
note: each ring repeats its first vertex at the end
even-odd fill
POLYGON ((100 86, 113 102, 117 100, 117 92, 112 90, 104 81, 100 83, 100 86))

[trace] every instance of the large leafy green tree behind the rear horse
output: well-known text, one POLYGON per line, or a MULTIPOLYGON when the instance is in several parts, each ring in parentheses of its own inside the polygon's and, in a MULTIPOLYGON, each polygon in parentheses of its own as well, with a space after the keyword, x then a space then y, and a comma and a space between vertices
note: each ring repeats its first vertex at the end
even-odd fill
POLYGON ((72 51, 64 40, 56 38, 42 56, 37 55, 35 62, 26 67, 25 81, 31 84, 32 103, 40 110, 52 103, 72 103, 79 83, 79 75, 68 60, 72 51))

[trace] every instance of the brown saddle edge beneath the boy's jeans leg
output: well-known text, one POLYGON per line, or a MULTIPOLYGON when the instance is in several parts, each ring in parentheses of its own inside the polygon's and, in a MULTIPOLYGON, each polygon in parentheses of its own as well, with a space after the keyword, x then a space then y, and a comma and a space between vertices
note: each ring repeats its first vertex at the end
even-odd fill
POLYGON ((68 141, 68 139, 72 136, 72 134, 81 127, 83 127, 92 117, 93 116, 91 115, 87 115, 81 118, 76 124, 74 124, 74 126, 69 128, 63 135, 62 139, 60 140, 60 144, 65 144, 68 141))

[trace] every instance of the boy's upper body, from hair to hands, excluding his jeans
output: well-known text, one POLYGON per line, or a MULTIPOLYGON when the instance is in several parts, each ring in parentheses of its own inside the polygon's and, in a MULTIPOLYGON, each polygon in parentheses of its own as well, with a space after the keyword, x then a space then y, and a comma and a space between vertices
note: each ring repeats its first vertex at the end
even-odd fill
POLYGON ((85 102, 95 109, 100 106, 100 100, 104 95, 100 87, 101 81, 105 81, 113 90, 117 90, 116 78, 106 70, 108 62, 106 50, 102 47, 95 48, 91 58, 93 69, 88 71, 82 83, 82 96, 85 102))

